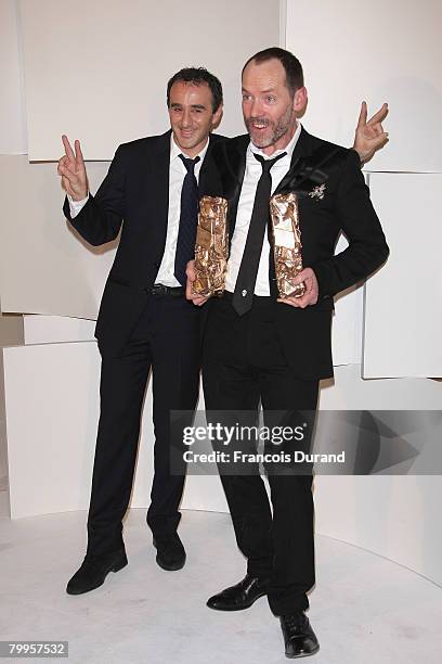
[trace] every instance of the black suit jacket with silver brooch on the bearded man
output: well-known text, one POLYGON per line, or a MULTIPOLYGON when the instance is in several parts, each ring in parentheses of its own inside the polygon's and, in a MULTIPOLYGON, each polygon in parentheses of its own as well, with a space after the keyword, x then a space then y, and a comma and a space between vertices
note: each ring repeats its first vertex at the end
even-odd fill
MULTIPOLYGON (((230 240, 243 184, 247 135, 214 145, 206 190, 202 193, 227 199, 230 240)), ((303 266, 318 282, 317 304, 306 309, 275 302, 277 333, 288 363, 298 378, 315 380, 333 375, 330 325, 333 296, 374 272, 389 248, 369 200, 359 155, 308 133, 303 128, 290 169, 274 193, 296 191, 299 199, 303 266), (311 197, 325 184, 324 197, 311 197), (340 231, 349 246, 334 255, 340 231)), ((274 290, 274 273, 271 274, 274 290)))

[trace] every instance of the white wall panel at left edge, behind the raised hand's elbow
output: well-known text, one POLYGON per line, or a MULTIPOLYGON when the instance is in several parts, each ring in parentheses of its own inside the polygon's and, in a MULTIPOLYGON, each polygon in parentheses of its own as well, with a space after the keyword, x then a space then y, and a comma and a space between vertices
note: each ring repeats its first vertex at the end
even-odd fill
MULTIPOLYGON (((92 191, 107 167, 88 165, 92 191)), ((68 228, 55 164, 0 156, 0 196, 2 310, 96 318, 115 248, 90 247, 68 228)))

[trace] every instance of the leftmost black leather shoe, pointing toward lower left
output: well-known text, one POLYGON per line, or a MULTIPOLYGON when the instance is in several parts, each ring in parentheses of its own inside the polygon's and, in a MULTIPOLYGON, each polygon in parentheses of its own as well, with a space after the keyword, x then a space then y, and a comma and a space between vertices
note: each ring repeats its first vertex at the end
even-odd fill
POLYGON ((77 570, 66 587, 68 595, 82 595, 94 590, 104 584, 109 572, 118 572, 126 567, 128 559, 125 549, 119 549, 106 556, 87 554, 81 567, 77 570))

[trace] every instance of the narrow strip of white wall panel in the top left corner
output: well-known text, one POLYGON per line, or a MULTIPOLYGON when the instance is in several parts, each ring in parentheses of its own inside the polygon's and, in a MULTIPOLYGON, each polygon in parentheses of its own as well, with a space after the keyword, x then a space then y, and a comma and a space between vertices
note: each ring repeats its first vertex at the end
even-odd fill
POLYGON ((17 0, 0 2, 0 154, 27 152, 17 0))

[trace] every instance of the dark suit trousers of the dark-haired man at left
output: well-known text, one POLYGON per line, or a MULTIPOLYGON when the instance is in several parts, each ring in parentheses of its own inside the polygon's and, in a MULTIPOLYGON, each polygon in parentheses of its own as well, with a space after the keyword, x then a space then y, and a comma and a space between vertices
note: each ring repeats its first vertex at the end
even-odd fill
POLYGON ((199 308, 184 296, 151 295, 123 348, 117 356, 102 354, 101 414, 88 516, 90 553, 122 546, 122 519, 132 489, 151 368, 155 472, 147 523, 157 539, 177 529, 185 468, 181 475, 170 472, 170 410, 196 407, 199 318, 199 308))

